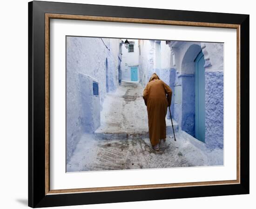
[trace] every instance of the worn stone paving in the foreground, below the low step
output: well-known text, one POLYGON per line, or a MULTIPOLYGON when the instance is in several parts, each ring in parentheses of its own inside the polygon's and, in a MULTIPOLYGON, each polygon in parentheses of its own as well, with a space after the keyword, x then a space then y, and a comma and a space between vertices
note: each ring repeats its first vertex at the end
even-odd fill
MULTIPOLYGON (((178 139, 177 139, 178 140, 178 139)), ((78 149, 67 164, 67 171, 150 169, 193 166, 175 147, 173 138, 160 145, 160 150, 151 148, 145 139, 92 139, 82 137, 78 149), (92 149, 87 141, 94 140, 92 149)))

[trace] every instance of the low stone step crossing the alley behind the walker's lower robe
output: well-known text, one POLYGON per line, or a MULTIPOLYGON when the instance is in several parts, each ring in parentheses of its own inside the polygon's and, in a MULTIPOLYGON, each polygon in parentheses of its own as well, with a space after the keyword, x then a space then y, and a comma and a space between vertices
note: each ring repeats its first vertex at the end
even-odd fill
MULTIPOLYGON (((179 130, 178 124, 175 120, 173 120, 173 126, 175 132, 179 130)), ((173 135, 172 124, 170 119, 166 119, 166 134, 173 135)), ((138 131, 126 131, 121 129, 102 129, 99 127, 95 132, 94 135, 96 138, 100 139, 139 139, 145 138, 148 136, 148 129, 145 130, 138 130, 138 131)))

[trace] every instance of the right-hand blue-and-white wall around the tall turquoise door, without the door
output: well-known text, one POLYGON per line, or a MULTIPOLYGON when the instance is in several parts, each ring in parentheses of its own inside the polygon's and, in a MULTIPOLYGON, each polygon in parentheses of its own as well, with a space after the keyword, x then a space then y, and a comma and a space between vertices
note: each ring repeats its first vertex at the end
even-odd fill
MULTIPOLYGON (((195 77, 194 60, 203 52, 205 68, 205 143, 209 147, 223 147, 223 44, 175 41, 164 49, 161 45, 161 66, 156 65, 155 42, 144 40, 139 57, 140 82, 148 83, 152 73, 173 90, 171 111, 179 129, 195 137, 195 77), (162 50, 164 49, 164 50, 162 50), (166 56, 166 57, 165 57, 166 56), (170 59, 169 59, 170 58, 170 59), (159 67, 159 68, 156 68, 159 67), (216 72, 218 71, 218 72, 216 72), (208 78, 207 78, 208 77, 208 78), (207 80, 209 79, 209 80, 207 80), (218 83, 218 86, 216 85, 218 83), (176 96, 177 98, 176 98, 176 96), (175 99, 176 98, 176 99, 175 99), (214 99, 213 99, 214 98, 214 99), (220 101, 222 99, 222 102, 220 101), (216 106, 213 106, 216 104, 216 106), (218 132, 218 133, 216 133, 218 132), (208 139, 207 139, 208 138, 208 139)), ((158 53, 158 52, 157 52, 158 53)), ((167 114, 169 118, 169 113, 167 114)))

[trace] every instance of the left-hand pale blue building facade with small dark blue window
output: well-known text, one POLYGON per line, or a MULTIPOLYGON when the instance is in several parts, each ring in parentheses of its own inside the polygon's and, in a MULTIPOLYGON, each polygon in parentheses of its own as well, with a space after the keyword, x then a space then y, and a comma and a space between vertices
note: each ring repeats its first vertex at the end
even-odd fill
POLYGON ((67 161, 81 134, 100 126, 105 95, 121 83, 121 43, 121 39, 66 38, 67 161))

